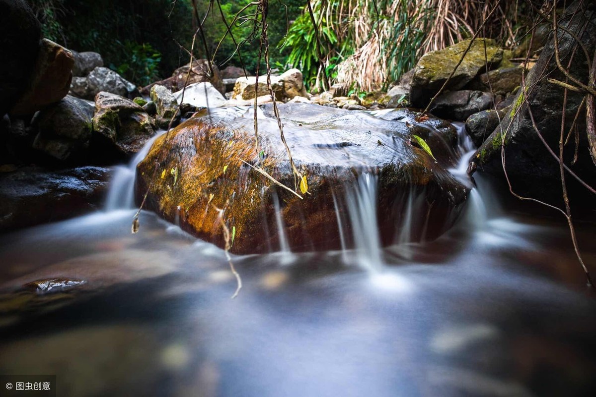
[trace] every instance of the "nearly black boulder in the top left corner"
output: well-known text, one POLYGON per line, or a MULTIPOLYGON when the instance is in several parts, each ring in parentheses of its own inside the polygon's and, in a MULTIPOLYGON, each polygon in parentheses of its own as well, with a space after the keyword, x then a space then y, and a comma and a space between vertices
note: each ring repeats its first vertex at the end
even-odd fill
POLYGON ((0 0, 0 116, 24 93, 39 53, 41 26, 23 0, 0 0))

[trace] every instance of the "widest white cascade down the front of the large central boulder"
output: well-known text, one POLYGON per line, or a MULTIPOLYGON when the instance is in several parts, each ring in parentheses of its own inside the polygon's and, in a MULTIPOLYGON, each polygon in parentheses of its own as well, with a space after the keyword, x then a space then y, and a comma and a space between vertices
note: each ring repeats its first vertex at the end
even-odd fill
POLYGON ((353 191, 347 193, 347 209, 359 264, 372 272, 383 266, 377 225, 377 177, 362 174, 353 191))

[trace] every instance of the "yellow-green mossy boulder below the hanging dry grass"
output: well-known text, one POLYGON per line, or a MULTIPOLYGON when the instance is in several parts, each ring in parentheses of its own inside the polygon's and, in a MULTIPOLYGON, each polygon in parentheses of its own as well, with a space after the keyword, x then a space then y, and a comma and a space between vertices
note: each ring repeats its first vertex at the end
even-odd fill
MULTIPOLYGON (((428 105, 430 99, 439 92, 455 66, 460 62, 468 45, 470 45, 470 40, 463 40, 440 51, 426 53, 420 58, 414 68, 411 80, 410 100, 412 106, 424 108, 428 105)), ((492 39, 474 40, 470 51, 465 54, 445 89, 451 91, 462 89, 481 71, 486 71, 486 59, 488 59, 489 69, 498 65, 503 59, 502 49, 492 39)))

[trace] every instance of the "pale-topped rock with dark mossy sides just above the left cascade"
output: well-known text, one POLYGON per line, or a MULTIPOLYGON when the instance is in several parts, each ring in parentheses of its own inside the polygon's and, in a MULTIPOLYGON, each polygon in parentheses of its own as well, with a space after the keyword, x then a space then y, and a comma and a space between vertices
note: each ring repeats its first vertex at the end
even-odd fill
POLYGON ((128 158, 137 153, 154 135, 151 119, 141 106, 116 94, 95 96, 93 132, 112 155, 128 158))

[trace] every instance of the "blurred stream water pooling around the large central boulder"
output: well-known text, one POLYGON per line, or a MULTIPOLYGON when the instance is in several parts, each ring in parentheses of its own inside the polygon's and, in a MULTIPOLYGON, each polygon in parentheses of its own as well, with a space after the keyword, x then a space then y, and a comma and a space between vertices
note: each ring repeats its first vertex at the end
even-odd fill
MULTIPOLYGON (((452 173, 470 183, 463 137, 452 173)), ((364 173, 334 197, 353 250, 234 256, 231 300, 219 248, 147 212, 131 235, 142 156, 105 212, 0 236, 0 374, 77 397, 594 395, 596 302, 563 222, 498 209, 478 180, 443 237, 412 242, 406 220, 381 249, 364 173)), ((594 263, 594 225, 578 238, 594 263)))

